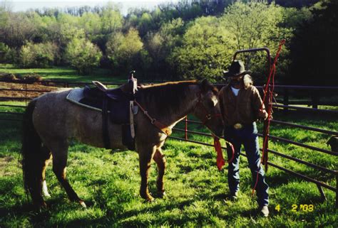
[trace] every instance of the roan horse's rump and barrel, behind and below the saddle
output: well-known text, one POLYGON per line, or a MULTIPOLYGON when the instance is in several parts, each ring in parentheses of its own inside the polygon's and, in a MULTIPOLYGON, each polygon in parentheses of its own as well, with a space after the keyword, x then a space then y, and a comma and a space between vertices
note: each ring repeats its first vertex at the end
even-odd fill
MULTIPOLYGON (((33 122, 43 141, 78 139, 92 146, 103 147, 102 113, 69 102, 71 89, 59 89, 36 98, 33 122)), ((110 124, 112 148, 123 148, 121 131, 110 124)), ((46 142, 48 143, 48 142, 46 142)))

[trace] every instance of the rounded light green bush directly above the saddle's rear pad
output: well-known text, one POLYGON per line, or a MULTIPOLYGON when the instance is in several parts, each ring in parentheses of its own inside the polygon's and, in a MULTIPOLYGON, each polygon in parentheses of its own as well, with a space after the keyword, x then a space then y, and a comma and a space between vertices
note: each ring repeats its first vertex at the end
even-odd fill
POLYGON ((102 53, 90 41, 74 38, 66 48, 65 58, 80 74, 88 74, 100 64, 102 53))

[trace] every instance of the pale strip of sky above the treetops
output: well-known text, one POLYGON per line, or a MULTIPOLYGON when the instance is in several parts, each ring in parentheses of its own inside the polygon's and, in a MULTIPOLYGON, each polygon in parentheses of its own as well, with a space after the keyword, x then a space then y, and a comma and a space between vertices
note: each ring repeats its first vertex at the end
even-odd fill
POLYGON ((108 2, 121 4, 121 13, 128 13, 128 8, 145 8, 153 9, 155 6, 165 2, 177 2, 178 0, 1 0, 10 4, 12 11, 26 11, 28 9, 43 9, 43 8, 65 8, 67 6, 104 6, 108 2))

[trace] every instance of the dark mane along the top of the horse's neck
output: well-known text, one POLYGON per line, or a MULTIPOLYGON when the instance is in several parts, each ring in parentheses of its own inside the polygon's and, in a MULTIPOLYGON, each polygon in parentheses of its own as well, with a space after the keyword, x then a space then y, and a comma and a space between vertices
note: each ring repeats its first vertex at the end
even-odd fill
MULTIPOLYGON (((156 107, 159 114, 175 112, 183 105, 183 97, 189 92, 189 85, 200 85, 197 80, 164 82, 153 85, 141 85, 138 89, 140 97, 147 106, 156 107)), ((217 93, 215 87, 210 86, 217 93)))

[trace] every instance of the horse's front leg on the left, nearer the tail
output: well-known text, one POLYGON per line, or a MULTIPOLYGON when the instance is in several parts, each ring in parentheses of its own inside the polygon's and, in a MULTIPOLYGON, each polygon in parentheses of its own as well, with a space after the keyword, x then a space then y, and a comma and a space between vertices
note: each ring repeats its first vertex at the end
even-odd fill
POLYGON ((148 190, 148 175, 150 169, 150 162, 153 154, 155 153, 155 147, 153 148, 144 148, 138 151, 139 161, 140 161, 140 196, 143 199, 148 201, 153 201, 154 198, 149 194, 148 190))

